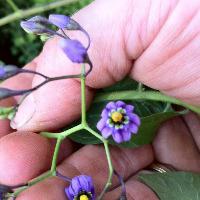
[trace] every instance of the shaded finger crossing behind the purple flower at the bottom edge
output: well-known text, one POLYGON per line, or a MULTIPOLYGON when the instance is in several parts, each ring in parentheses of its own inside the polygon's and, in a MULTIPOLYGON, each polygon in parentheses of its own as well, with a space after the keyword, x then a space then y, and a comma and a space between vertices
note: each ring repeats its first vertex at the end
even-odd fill
MULTIPOLYGON (((153 152, 150 145, 135 149, 119 149, 113 147, 111 148, 111 155, 116 170, 126 178, 141 168, 148 166, 153 161, 153 152)), ((74 177, 80 174, 92 176, 97 193, 102 190, 106 183, 106 177, 108 175, 106 169, 107 161, 104 148, 94 145, 83 147, 64 160, 58 167, 58 171, 68 177, 74 177)), ((117 179, 114 179, 113 187, 117 184, 117 179)), ((64 184, 59 181, 58 178, 47 179, 23 192, 18 199, 40 200, 44 197, 52 200, 58 197, 60 200, 66 199, 63 192, 65 186, 66 183, 64 184), (56 188, 54 189, 55 185, 56 188)))

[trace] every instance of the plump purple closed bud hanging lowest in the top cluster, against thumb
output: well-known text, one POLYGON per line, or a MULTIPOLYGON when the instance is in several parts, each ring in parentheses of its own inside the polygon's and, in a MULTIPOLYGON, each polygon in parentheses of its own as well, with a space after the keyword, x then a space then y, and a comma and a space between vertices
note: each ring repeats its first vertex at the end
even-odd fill
POLYGON ((78 40, 61 39, 60 46, 72 62, 84 63, 86 61, 87 49, 78 40))

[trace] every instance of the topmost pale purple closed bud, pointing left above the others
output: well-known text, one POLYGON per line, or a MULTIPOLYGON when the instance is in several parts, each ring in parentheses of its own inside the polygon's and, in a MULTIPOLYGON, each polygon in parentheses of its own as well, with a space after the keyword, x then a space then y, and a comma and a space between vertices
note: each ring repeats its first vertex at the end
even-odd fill
POLYGON ((49 15, 49 21, 58 28, 66 28, 70 23, 70 17, 59 14, 49 15))

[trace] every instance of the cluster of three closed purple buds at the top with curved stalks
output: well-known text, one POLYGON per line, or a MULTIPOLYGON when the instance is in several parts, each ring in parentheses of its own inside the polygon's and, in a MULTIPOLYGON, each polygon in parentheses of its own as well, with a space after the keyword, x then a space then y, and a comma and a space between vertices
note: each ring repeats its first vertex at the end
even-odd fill
POLYGON ((21 22, 21 27, 28 33, 34 33, 38 35, 57 35, 60 37, 60 47, 63 52, 68 56, 68 58, 74 63, 88 63, 89 57, 87 50, 90 46, 90 37, 79 23, 73 20, 71 17, 65 15, 51 14, 49 18, 42 16, 35 16, 27 21, 21 22), (61 33, 54 31, 50 28, 50 25, 54 25, 61 30, 61 33), (66 35, 64 30, 79 30, 83 32, 88 38, 88 45, 84 47, 83 44, 78 40, 71 40, 69 36, 66 35))

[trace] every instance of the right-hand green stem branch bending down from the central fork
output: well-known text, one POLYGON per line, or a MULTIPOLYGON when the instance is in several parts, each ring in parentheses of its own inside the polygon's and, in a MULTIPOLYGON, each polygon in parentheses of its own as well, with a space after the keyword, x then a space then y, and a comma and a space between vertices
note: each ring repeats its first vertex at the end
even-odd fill
POLYGON ((108 167, 109 167, 109 174, 108 174, 108 179, 107 179, 106 185, 105 185, 103 191, 101 192, 101 194, 98 197, 98 200, 101 200, 103 198, 104 194, 108 191, 108 189, 112 185, 112 177, 113 177, 113 171, 114 171, 113 165, 112 165, 112 160, 111 160, 111 155, 110 155, 110 150, 109 150, 109 146, 108 146, 108 141, 105 140, 102 136, 100 136, 98 133, 96 133, 94 130, 92 130, 88 126, 85 127, 85 130, 87 130, 88 132, 90 132, 92 135, 99 138, 103 142, 105 152, 106 152, 106 158, 107 158, 108 167))

